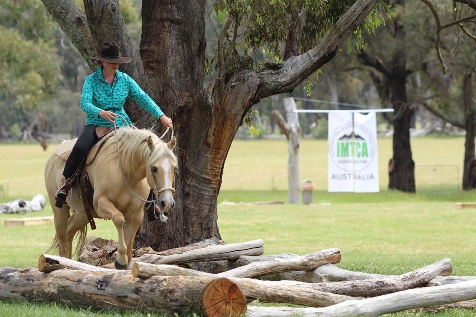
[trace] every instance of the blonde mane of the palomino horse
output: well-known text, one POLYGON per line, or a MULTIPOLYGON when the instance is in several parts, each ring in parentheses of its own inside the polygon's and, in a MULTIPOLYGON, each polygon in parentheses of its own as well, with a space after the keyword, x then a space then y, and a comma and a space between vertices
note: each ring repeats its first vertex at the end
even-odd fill
POLYGON ((167 146, 167 143, 161 141, 151 130, 138 129, 134 126, 123 127, 117 130, 119 138, 119 148, 121 150, 122 164, 128 173, 134 174, 141 162, 146 162, 147 166, 152 165, 162 156, 169 157, 177 165, 177 157, 167 146), (155 144, 154 150, 150 151, 147 146, 147 139, 152 138, 155 144), (141 160, 137 160, 141 158, 141 160))

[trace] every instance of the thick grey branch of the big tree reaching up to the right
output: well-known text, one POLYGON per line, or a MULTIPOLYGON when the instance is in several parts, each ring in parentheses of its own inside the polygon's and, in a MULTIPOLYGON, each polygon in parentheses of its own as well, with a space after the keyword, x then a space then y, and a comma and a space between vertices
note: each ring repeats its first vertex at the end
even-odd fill
POLYGON ((378 0, 357 0, 316 47, 302 55, 285 60, 280 69, 257 71, 259 88, 254 102, 290 91, 329 62, 373 10, 377 2, 378 0))

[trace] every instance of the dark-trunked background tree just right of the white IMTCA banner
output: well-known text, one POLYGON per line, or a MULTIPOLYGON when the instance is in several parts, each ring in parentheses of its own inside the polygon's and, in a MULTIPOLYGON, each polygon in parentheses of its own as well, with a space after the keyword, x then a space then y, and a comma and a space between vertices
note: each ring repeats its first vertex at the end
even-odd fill
POLYGON ((394 130, 388 187, 415 192, 410 127, 415 113, 412 100, 416 96, 416 87, 409 87, 408 83, 411 76, 425 66, 433 45, 430 30, 425 28, 429 15, 420 2, 385 2, 392 6, 395 16, 377 30, 374 40, 367 41, 365 50, 360 51, 358 57, 370 69, 382 106, 394 109, 394 113, 387 116, 394 130))

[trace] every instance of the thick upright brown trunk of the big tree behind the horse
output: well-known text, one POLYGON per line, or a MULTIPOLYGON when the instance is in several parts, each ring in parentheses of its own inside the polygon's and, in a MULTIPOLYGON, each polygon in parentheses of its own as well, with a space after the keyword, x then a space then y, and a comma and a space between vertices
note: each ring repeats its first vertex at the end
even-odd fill
MULTIPOLYGON (((219 154, 210 147, 207 138, 221 138, 222 134, 208 135, 213 110, 206 99, 194 99, 204 79, 205 8, 205 0, 142 1, 140 53, 155 100, 174 122, 180 171, 172 216, 167 223, 144 218, 136 246, 165 250, 220 238, 216 199, 221 162, 229 146, 219 154)), ((137 112, 128 111, 134 121, 140 118, 137 112)))

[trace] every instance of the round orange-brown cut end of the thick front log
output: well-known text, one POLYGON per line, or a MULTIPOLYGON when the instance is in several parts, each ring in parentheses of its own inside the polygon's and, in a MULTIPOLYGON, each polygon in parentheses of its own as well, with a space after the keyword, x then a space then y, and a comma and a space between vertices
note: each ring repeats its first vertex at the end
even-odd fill
POLYGON ((211 281, 203 292, 203 309, 208 317, 239 317, 246 313, 246 298, 228 278, 211 281))

